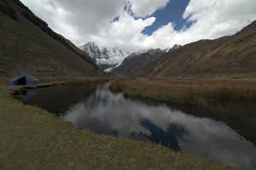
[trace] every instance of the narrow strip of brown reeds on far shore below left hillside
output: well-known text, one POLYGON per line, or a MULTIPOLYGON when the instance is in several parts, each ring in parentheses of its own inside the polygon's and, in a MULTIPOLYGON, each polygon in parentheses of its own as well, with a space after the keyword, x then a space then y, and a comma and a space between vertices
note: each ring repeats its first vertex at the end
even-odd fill
POLYGON ((85 85, 90 83, 109 82, 108 78, 73 78, 64 80, 66 85, 85 85))

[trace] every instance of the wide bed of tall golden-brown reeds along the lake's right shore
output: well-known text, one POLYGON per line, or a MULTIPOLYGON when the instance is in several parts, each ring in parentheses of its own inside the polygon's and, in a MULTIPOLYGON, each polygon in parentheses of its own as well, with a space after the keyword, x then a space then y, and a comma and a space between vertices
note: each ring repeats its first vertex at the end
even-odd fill
POLYGON ((256 84, 253 82, 121 78, 110 84, 109 89, 123 92, 125 96, 191 104, 201 102, 200 96, 256 100, 256 84))

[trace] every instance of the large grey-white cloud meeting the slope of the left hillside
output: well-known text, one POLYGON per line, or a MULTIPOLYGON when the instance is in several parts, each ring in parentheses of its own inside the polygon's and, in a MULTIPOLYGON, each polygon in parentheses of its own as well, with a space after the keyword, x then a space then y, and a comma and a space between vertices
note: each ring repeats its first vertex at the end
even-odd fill
POLYGON ((76 45, 93 41, 94 37, 123 13, 125 0, 21 0, 49 27, 76 45), (54 7, 52 4, 54 4, 54 7))

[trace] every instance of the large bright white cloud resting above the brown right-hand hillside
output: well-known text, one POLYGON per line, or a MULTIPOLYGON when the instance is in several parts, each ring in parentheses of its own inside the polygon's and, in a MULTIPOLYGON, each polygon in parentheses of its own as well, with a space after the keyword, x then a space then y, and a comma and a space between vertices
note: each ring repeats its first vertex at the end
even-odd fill
POLYGON ((191 0, 183 13, 183 19, 194 24, 175 31, 175 23, 169 23, 154 31, 141 44, 149 48, 166 48, 175 43, 184 45, 200 39, 233 35, 256 20, 256 3, 252 0, 191 0))

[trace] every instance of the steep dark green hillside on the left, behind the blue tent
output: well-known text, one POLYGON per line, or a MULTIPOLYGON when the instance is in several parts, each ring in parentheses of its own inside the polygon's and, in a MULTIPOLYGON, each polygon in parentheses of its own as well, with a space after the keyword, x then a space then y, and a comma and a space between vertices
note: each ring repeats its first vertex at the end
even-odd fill
POLYGON ((35 77, 104 77, 72 42, 51 31, 18 0, 0 1, 0 78, 26 70, 35 77))

